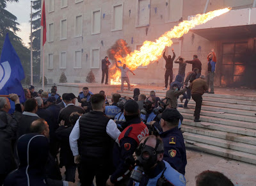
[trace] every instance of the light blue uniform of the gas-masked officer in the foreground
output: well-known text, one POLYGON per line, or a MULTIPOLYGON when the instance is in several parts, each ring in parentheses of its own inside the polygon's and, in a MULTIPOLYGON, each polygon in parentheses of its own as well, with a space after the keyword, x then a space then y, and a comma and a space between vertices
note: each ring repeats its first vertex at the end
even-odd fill
MULTIPOLYGON (((175 171, 168 162, 164 161, 164 166, 166 169, 161 171, 161 173, 157 174, 154 178, 149 178, 147 185, 157 185, 157 180, 164 176, 164 179, 166 180, 165 185, 175 185, 175 186, 184 186, 186 185, 186 179, 183 174, 180 174, 179 172, 175 171)), ((138 167, 135 167, 134 170, 136 170, 138 167)), ((135 182, 135 186, 139 186, 140 183, 135 182)))

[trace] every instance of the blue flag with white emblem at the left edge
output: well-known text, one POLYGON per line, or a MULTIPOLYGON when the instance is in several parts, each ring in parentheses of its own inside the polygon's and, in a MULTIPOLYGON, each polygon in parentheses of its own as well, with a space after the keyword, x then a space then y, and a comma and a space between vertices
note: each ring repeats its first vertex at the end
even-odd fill
MULTIPOLYGON (((8 33, 6 34, 0 59, 0 95, 15 93, 20 96, 20 102, 25 102, 21 85, 25 78, 19 56, 13 48, 8 33)), ((14 102, 11 103, 13 109, 14 102)))

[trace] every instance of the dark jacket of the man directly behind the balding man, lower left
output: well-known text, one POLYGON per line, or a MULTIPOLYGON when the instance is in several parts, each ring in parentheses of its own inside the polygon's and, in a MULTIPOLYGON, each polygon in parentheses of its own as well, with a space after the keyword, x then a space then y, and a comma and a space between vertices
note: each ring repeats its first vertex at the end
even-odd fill
POLYGON ((19 128, 18 128, 18 132, 17 132, 18 139, 20 136, 22 136, 24 134, 31 133, 31 130, 30 130, 31 123, 38 119, 39 119, 38 116, 24 115, 24 112, 23 112, 22 117, 20 118, 20 121, 19 121, 19 128))

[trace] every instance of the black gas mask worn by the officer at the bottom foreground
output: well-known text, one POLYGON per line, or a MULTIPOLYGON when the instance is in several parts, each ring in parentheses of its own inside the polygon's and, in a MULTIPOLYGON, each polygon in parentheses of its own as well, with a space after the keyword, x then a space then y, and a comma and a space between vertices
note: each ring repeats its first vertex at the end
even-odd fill
POLYGON ((160 139, 156 138, 155 148, 147 146, 147 140, 148 137, 147 139, 145 139, 144 143, 141 143, 135 151, 136 156, 138 157, 138 159, 136 160, 136 165, 138 166, 138 169, 133 170, 131 173, 131 178, 135 182, 141 182, 143 178, 143 172, 147 174, 150 168, 157 164, 157 154, 164 152, 163 150, 157 151, 160 139))

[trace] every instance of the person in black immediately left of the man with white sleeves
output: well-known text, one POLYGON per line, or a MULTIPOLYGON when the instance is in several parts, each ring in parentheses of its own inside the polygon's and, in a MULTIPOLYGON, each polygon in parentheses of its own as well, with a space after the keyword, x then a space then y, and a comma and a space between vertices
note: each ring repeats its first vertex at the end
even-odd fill
POLYGON ((76 124, 76 121, 81 116, 79 112, 72 112, 69 116, 69 121, 71 123, 70 127, 65 127, 65 121, 61 121, 60 127, 56 130, 56 137, 60 141, 60 167, 65 166, 66 178, 68 182, 75 182, 76 167, 74 163, 74 156, 69 145, 69 136, 76 124))

